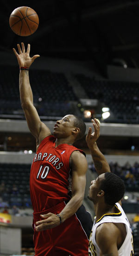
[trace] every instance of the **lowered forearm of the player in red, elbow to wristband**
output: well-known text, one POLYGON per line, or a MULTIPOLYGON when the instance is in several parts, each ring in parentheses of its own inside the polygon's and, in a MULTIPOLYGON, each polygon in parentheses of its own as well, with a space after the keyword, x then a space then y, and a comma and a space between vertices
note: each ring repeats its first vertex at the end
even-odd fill
POLYGON ((82 205, 83 198, 79 195, 73 196, 70 201, 65 205, 64 209, 59 213, 62 222, 76 213, 79 207, 82 205))

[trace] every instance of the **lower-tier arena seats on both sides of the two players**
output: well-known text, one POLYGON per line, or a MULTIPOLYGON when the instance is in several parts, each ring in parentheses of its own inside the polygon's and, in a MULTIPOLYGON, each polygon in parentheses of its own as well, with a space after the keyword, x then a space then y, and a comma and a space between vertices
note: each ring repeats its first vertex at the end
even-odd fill
MULTIPOLYGON (((30 200, 30 164, 0 164, 1 183, 5 183, 5 190, 1 193, 3 201, 10 206, 32 207, 30 200)), ((89 165, 93 171, 94 166, 89 165)), ((139 191, 139 164, 122 166, 110 163, 111 171, 119 175, 126 184, 127 191, 139 191), (130 174, 130 175, 129 175, 130 174)))

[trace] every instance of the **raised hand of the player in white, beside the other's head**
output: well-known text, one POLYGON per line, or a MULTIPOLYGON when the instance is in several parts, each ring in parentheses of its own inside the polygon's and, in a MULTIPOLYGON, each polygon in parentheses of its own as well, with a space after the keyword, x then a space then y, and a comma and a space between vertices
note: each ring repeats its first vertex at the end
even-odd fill
POLYGON ((92 119, 91 121, 93 123, 94 132, 92 133, 92 128, 89 127, 88 134, 86 136, 88 148, 91 148, 100 136, 100 122, 96 118, 92 119))

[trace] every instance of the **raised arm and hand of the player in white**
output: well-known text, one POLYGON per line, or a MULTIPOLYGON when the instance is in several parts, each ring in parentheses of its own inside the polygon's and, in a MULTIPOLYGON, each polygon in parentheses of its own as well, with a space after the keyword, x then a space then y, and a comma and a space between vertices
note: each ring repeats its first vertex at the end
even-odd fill
POLYGON ((100 175, 104 172, 108 172, 108 171, 110 172, 110 167, 109 167, 109 164, 107 163, 106 158, 101 153, 101 151, 99 150, 96 144, 96 140, 100 136, 100 123, 96 118, 92 119, 92 123, 95 131, 92 133, 92 128, 89 127, 88 134, 86 136, 86 142, 88 144, 88 148, 90 149, 91 156, 95 164, 95 170, 97 174, 100 175))

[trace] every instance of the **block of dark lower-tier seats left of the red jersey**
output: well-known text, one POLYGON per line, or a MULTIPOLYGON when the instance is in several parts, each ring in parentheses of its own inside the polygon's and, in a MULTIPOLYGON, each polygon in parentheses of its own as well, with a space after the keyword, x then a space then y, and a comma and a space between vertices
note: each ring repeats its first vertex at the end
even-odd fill
POLYGON ((5 190, 1 193, 4 202, 10 207, 32 207, 30 199, 30 164, 0 164, 1 183, 5 190))

